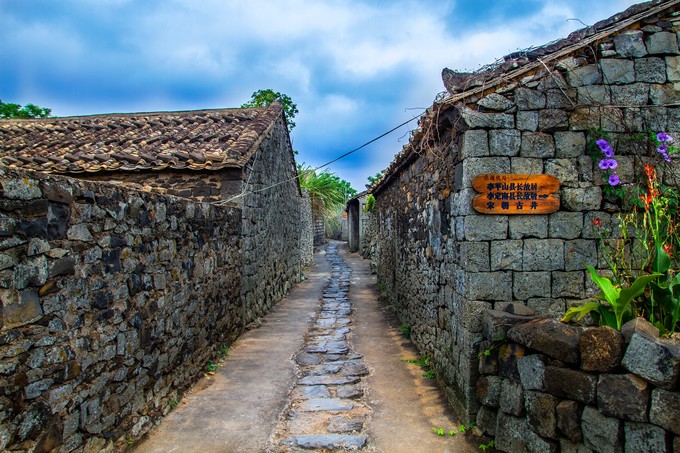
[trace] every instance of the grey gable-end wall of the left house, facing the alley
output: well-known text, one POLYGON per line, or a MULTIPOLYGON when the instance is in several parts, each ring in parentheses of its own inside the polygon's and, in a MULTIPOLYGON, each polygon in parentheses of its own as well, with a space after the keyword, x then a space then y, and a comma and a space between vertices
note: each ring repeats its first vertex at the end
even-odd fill
POLYGON ((243 303, 246 322, 264 316, 300 281, 302 193, 281 117, 246 165, 243 303))

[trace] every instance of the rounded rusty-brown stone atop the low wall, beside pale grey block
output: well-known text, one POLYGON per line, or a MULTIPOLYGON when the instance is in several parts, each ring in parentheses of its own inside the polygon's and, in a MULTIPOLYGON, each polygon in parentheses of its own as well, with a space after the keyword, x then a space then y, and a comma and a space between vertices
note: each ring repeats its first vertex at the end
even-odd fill
POLYGON ((625 351, 623 335, 611 327, 586 329, 579 342, 581 369, 609 372, 621 364, 625 351))

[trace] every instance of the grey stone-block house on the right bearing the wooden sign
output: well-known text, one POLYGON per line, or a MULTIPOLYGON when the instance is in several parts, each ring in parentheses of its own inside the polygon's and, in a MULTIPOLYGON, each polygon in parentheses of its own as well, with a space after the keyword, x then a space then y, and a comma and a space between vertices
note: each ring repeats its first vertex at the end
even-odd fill
MULTIPOLYGON (((432 357, 463 420, 489 411, 494 420, 496 411, 499 420, 501 414, 519 420, 507 407, 498 410, 498 400, 482 408, 477 399, 488 310, 514 302, 513 310, 524 306, 561 317, 595 294, 584 264, 606 264, 593 221, 615 227, 610 222, 617 205, 603 192, 607 180, 590 153, 594 131, 608 135, 626 182, 635 181, 642 163, 662 160, 653 143, 640 141, 641 133, 679 136, 679 3, 633 6, 476 73, 445 69, 447 93, 370 189, 376 197, 372 259, 379 282, 420 351, 432 357), (477 212, 472 182, 482 174, 555 176, 559 209, 537 215, 477 212)), ((514 363, 511 353, 505 359, 514 363)), ((517 376, 512 367, 507 372, 506 378, 517 376)), ((504 426, 499 422, 498 429, 504 426)), ((513 435, 512 429, 501 431, 506 451, 512 450, 509 438, 536 436, 524 428, 513 435)), ((536 451, 556 451, 559 436, 553 435, 534 445, 536 451)))

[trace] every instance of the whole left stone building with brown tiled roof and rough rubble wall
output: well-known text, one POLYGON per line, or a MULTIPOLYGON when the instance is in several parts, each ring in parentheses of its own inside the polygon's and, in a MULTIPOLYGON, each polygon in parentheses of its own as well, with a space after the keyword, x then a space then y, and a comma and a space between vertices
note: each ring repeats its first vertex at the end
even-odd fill
POLYGON ((3 120, 0 162, 3 451, 123 449, 311 251, 276 103, 3 120))

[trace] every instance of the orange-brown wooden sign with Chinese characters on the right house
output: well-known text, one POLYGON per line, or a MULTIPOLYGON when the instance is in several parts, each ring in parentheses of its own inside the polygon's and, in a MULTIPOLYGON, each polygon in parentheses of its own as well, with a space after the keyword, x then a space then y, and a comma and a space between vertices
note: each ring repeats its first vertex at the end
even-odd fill
POLYGON ((484 174, 472 181, 479 192, 472 207, 482 214, 549 214, 560 209, 553 195, 560 181, 551 175, 484 174))

